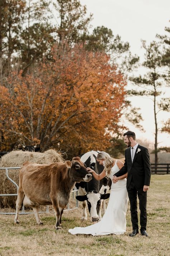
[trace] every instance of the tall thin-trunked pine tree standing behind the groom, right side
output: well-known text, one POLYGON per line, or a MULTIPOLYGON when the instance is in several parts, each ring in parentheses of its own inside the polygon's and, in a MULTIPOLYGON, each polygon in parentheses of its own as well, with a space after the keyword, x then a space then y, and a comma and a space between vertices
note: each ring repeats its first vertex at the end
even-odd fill
MULTIPOLYGON (((131 77, 131 81, 138 86, 136 90, 129 91, 130 95, 147 96, 153 101, 154 106, 154 119, 155 119, 155 164, 158 163, 158 132, 161 127, 157 121, 157 115, 160 111, 167 109, 167 106, 160 100, 163 94, 163 88, 168 86, 165 79, 165 74, 162 72, 163 64, 162 58, 164 51, 162 50, 160 42, 153 41, 150 45, 146 45, 146 41, 142 41, 143 48, 145 49, 145 61, 143 67, 148 72, 144 76, 131 77), (164 106, 163 106, 164 105, 164 106)), ((164 99, 169 100, 169 99, 164 99)))

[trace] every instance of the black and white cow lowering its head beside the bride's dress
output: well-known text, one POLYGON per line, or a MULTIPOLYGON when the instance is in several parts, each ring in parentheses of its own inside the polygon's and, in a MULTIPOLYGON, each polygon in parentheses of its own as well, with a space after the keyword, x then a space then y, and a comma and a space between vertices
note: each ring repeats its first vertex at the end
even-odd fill
MULTIPOLYGON (((89 151, 81 156, 81 161, 86 164, 86 167, 90 167, 96 173, 100 174, 104 167, 100 165, 96 160, 96 156, 100 151, 89 151)), ((89 213, 93 222, 101 220, 101 208, 103 213, 105 212, 105 199, 109 198, 110 187, 112 184, 111 179, 103 178, 96 180, 94 177, 90 182, 76 183, 79 196, 76 199, 82 201, 83 212, 82 220, 87 219, 86 205, 88 204, 89 213)))

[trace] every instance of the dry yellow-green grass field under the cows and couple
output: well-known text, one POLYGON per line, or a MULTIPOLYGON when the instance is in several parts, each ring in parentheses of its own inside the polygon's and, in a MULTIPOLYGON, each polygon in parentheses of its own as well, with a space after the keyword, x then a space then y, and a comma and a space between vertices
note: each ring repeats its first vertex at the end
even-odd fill
POLYGON ((65 211, 62 230, 55 230, 53 212, 40 214, 43 226, 38 226, 33 214, 19 215, 20 224, 14 225, 14 215, 0 215, 0 255, 83 255, 83 256, 168 256, 170 255, 170 175, 152 175, 148 191, 147 212, 149 237, 132 231, 130 210, 127 211, 127 232, 123 235, 88 236, 68 233, 69 228, 85 227, 91 222, 80 220, 79 209, 65 211))

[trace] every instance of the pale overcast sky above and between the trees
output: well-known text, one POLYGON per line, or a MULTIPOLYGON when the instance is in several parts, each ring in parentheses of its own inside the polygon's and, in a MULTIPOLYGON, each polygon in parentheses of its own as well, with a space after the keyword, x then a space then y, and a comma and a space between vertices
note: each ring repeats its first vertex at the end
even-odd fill
MULTIPOLYGON (((123 41, 128 41, 131 52, 143 60, 141 39, 147 44, 155 40, 156 34, 165 35, 164 28, 170 27, 170 0, 80 0, 87 6, 88 13, 93 14, 91 25, 105 26, 112 29, 113 34, 119 34, 123 41)), ((132 105, 141 107, 146 130, 140 132, 128 124, 128 128, 136 132, 138 138, 154 142, 153 104, 149 99, 134 97, 132 105)), ((170 113, 160 113, 159 122, 170 118, 170 113)), ((170 135, 164 133, 158 136, 159 146, 170 146, 170 135)))

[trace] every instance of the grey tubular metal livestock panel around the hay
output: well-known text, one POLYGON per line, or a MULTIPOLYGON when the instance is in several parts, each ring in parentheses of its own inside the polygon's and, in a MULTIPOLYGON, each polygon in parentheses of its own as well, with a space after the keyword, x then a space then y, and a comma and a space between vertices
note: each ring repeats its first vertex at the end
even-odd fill
MULTIPOLYGON (((12 170, 12 169, 20 169, 20 167, 0 167, 0 170, 5 170, 5 174, 6 174, 7 179, 10 180, 10 182, 12 182, 16 186, 17 194, 0 194, 0 198, 2 196, 17 196, 18 195, 18 184, 16 184, 14 182, 14 180, 12 180, 8 175, 8 170, 12 170)), ((75 199, 74 193, 76 193, 76 196, 77 196, 78 195, 78 190, 75 188, 73 191, 71 191, 71 193, 73 195, 73 199, 75 199)), ((70 208, 69 203, 68 203, 67 204, 67 209, 65 209, 64 211, 74 210, 77 207, 79 207, 79 201, 76 199, 76 207, 70 208)), ((0 205, 0 209, 1 209, 1 205, 0 205)), ((46 206, 46 212, 49 212, 48 205, 46 206)), ((42 213, 42 212, 40 212, 40 213, 42 213)), ((0 212, 0 214, 15 214, 15 212, 0 212)), ((19 212, 19 214, 33 214, 33 212, 25 212, 24 205, 23 205, 22 212, 19 212)))

